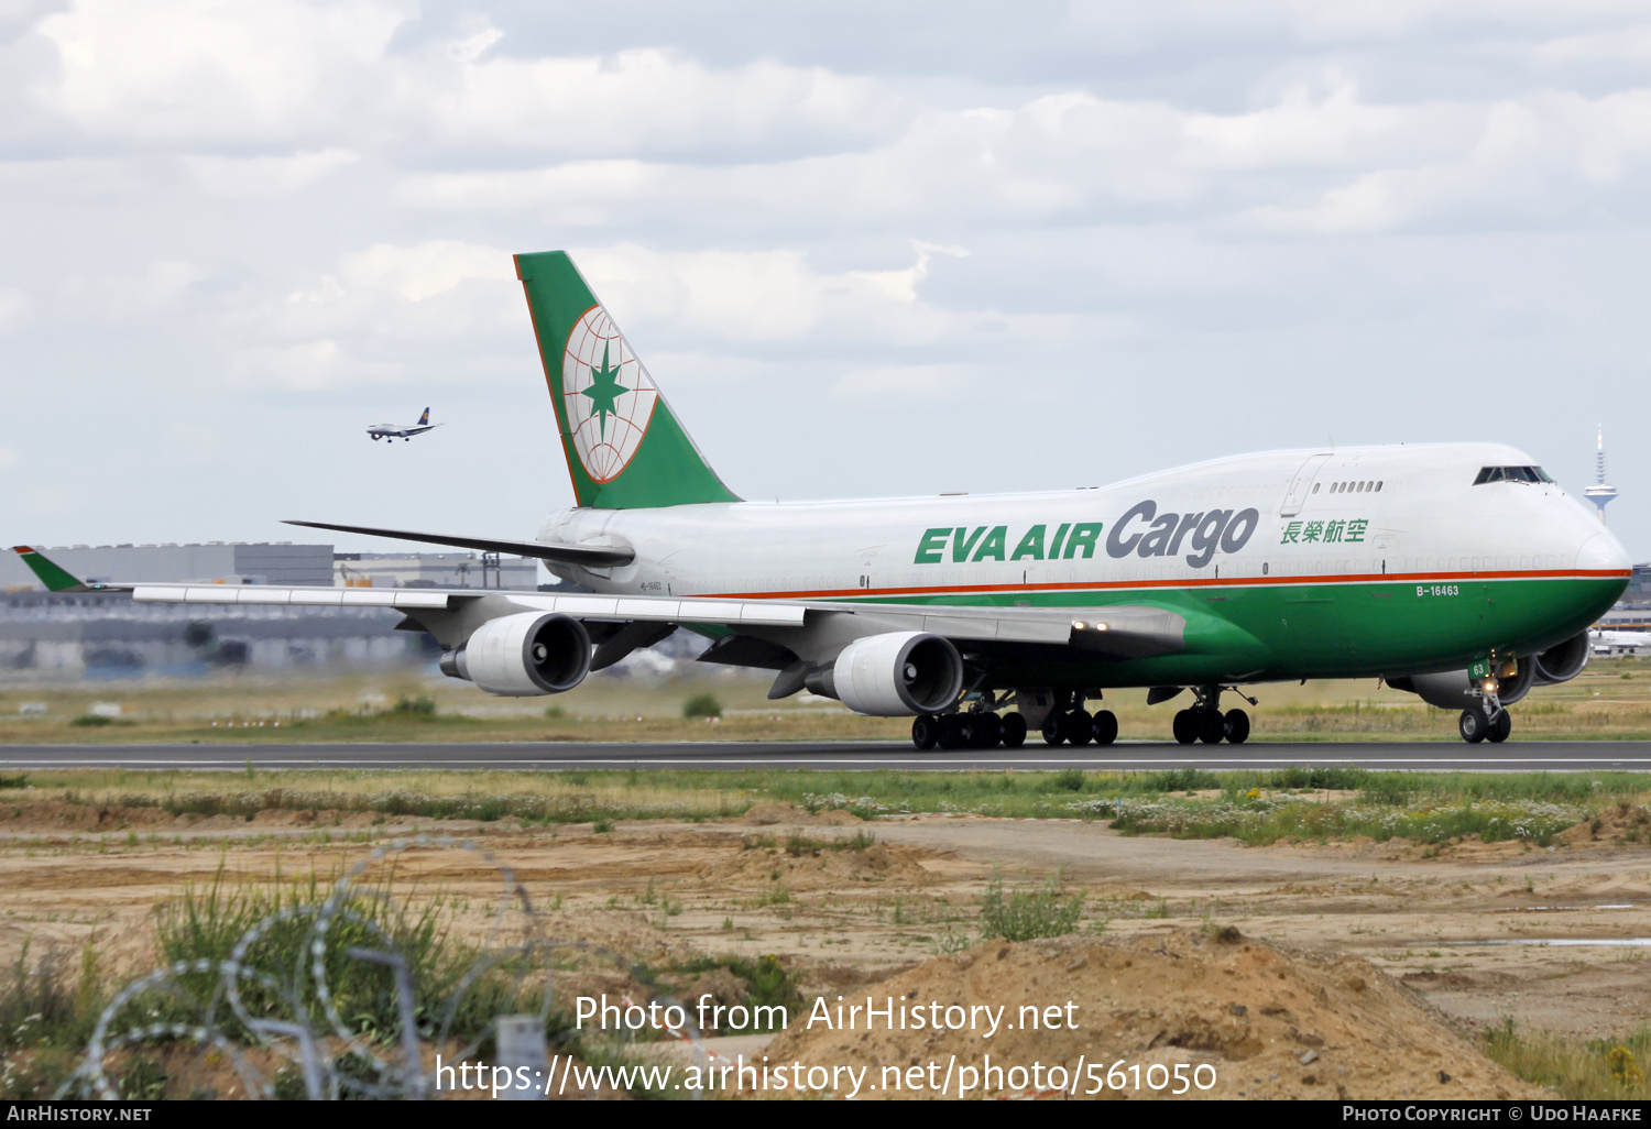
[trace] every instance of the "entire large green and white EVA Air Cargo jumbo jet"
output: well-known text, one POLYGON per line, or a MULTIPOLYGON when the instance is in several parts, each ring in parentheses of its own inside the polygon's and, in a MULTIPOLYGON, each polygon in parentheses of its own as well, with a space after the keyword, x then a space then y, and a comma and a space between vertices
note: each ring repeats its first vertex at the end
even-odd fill
POLYGON ((571 690, 685 627, 712 640, 702 662, 774 672, 771 698, 807 688, 956 749, 1017 748, 1029 728, 1111 744, 1118 718, 1096 706, 1126 687, 1147 705, 1190 690, 1177 741, 1240 743, 1250 716, 1223 713, 1223 692, 1255 705, 1240 685, 1375 677, 1459 710, 1463 739, 1502 741, 1506 706, 1582 672, 1588 626, 1630 581, 1593 508, 1491 442, 1273 451, 1085 490, 745 502, 571 259, 515 262, 576 507, 532 541, 292 525, 537 556, 589 594, 99 588, 398 607, 442 672, 507 697, 571 690))

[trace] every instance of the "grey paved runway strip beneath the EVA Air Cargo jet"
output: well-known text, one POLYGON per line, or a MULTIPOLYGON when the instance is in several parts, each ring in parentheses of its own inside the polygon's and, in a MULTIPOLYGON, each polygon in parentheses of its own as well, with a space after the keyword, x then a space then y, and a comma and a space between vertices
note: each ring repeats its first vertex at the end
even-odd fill
POLYGON ((1426 772, 1651 772, 1651 741, 1118 743, 918 753, 905 741, 452 743, 452 744, 8 744, 0 769, 826 769, 1085 771, 1202 768, 1212 772, 1355 764, 1426 772))

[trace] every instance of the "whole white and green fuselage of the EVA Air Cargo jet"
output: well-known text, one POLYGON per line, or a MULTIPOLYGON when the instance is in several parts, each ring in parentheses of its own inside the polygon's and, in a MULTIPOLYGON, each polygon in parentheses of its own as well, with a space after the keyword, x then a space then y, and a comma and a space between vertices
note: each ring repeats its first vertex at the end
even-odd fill
MULTIPOLYGON (((992 687, 1141 687, 1455 670, 1575 637, 1621 545, 1497 444, 1268 452, 1096 490, 568 510, 540 536, 624 545, 596 591, 1174 612, 1152 657, 969 640, 992 687)), ((1091 617, 1093 612, 1091 612, 1091 617)))

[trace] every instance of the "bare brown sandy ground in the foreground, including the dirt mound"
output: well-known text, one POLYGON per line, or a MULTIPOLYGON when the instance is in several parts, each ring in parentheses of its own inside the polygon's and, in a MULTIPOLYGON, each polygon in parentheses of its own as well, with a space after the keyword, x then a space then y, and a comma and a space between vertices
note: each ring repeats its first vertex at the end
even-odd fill
MULTIPOLYGON (((860 824, 784 805, 723 824, 598 834, 513 820, 244 820, 15 802, 0 809, 0 961, 25 942, 38 951, 91 941, 111 967, 137 974, 157 962, 154 906, 187 885, 312 872, 325 880, 395 835, 431 832, 487 853, 441 843, 401 852, 396 888, 406 896, 449 896, 456 928, 479 938, 502 862, 545 933, 611 954, 570 971, 563 997, 646 994, 636 962, 669 971, 700 956, 774 954, 809 1005, 817 995, 906 992, 1010 1012, 1080 1005, 1076 1032, 1001 1032, 989 1045, 967 1033, 809 1030, 799 1015, 764 1051, 771 1058, 840 1056, 875 1075, 954 1053, 976 1061, 989 1050, 994 1061, 1022 1065, 1083 1053, 1142 1068, 1207 1061, 1220 1078, 1212 1096, 1519 1096, 1535 1091, 1476 1050, 1484 1025, 1511 1015, 1605 1038, 1651 1015, 1651 947, 1593 944, 1651 938, 1651 848, 1628 842, 1633 819, 1606 815, 1552 848, 1243 847, 1126 837, 1088 822, 860 824), (1085 893, 1085 933, 972 944, 994 878, 1034 888, 1052 876, 1085 893)), ((738 984, 695 975, 659 982, 690 1000, 710 992, 736 1002, 738 984)))

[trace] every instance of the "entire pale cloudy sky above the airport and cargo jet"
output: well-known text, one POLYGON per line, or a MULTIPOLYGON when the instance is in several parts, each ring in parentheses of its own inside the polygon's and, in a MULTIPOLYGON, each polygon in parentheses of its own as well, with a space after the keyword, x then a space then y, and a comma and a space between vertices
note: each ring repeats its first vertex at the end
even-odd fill
POLYGON ((1648 190, 1651 0, 0 0, 0 538, 532 536, 568 249, 748 498, 1603 423, 1648 560, 1648 190))

